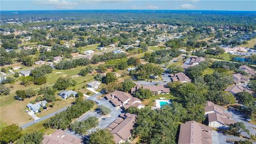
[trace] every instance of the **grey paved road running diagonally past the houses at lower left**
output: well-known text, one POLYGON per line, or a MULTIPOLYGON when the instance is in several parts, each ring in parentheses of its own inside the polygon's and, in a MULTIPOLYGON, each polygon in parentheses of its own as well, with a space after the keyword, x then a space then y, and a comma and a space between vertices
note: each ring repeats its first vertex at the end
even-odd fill
MULTIPOLYGON (((101 94, 102 94, 102 93, 94 94, 94 95, 92 95, 92 96, 91 96, 90 98, 88 98, 88 99, 97 99, 97 97, 98 97, 99 95, 101 95, 101 94)), ((69 106, 68 106, 68 107, 69 107, 69 106)), ((33 125, 33 124, 36 124, 36 123, 38 123, 38 122, 44 121, 45 119, 50 118, 50 117, 54 116, 55 114, 60 113, 61 111, 66 110, 68 107, 65 107, 65 108, 59 109, 59 110, 57 110, 57 111, 54 111, 53 113, 48 114, 48 115, 46 115, 46 116, 43 116, 43 117, 41 117, 41 118, 39 118, 39 119, 37 119, 37 120, 35 120, 35 121, 33 121, 33 122, 29 122, 29 123, 27 123, 27 124, 21 125, 21 127, 22 127, 22 129, 25 129, 26 127, 29 127, 30 125, 33 125)))

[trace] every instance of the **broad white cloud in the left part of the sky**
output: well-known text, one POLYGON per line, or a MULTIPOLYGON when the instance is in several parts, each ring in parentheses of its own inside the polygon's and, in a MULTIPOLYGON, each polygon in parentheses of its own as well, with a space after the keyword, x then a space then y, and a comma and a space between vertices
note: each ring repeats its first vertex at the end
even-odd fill
POLYGON ((77 5, 76 2, 65 1, 65 0, 44 0, 39 1, 39 4, 52 5, 55 9, 74 9, 77 5))

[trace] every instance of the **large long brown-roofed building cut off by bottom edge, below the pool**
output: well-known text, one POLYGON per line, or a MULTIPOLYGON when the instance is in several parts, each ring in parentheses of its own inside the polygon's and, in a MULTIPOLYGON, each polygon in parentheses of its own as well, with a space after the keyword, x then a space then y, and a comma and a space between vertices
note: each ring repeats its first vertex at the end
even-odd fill
POLYGON ((195 121, 180 125, 178 144, 212 144, 212 129, 195 121))

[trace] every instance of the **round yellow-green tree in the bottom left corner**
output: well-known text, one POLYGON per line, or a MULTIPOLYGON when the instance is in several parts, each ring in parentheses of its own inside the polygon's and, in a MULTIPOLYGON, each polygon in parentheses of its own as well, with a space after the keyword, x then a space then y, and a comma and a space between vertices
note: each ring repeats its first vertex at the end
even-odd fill
POLYGON ((12 124, 9 126, 4 127, 0 131, 0 141, 1 143, 9 143, 14 142, 18 138, 21 137, 21 128, 17 124, 12 124))

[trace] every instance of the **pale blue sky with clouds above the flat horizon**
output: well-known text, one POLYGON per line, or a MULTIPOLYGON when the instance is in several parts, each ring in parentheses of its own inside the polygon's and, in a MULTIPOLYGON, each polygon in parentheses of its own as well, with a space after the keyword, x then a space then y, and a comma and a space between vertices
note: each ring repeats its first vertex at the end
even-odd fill
POLYGON ((155 0, 155 1, 75 1, 75 0, 1 0, 6 10, 231 10, 256 11, 256 1, 155 0))

